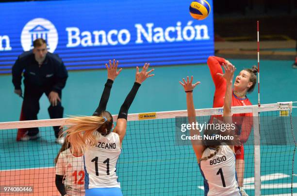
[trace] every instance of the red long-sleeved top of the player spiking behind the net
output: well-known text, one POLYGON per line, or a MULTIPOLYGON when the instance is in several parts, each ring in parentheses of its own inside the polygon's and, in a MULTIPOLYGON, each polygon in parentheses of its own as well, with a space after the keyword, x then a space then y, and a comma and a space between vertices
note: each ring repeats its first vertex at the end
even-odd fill
MULTIPOLYGON (((223 70, 221 65, 226 64, 226 60, 224 58, 216 57, 216 56, 210 56, 208 57, 207 64, 209 67, 209 70, 211 72, 215 91, 214 91, 214 103, 213 107, 223 107, 224 106, 224 98, 225 98, 225 92, 226 92, 226 80, 221 77, 220 75, 217 75, 216 73, 223 74, 223 70)), ((232 93, 232 103, 231 106, 250 106, 252 105, 248 98, 239 98, 234 93, 232 93)), ((233 117, 251 117, 252 113, 243 113, 243 114, 234 114, 233 117)), ((236 124, 241 126, 240 130, 240 140, 245 143, 248 139, 251 127, 253 125, 251 118, 241 118, 236 119, 236 124), (238 122, 240 121, 241 122, 238 122)))

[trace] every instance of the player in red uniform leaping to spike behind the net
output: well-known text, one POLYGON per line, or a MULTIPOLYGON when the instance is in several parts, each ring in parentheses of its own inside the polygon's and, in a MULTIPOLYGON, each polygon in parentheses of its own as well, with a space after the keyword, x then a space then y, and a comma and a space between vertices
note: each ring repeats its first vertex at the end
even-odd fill
MULTIPOLYGON (((214 91, 214 103, 213 107, 223 107, 224 105, 224 96, 226 92, 226 80, 221 77, 224 73, 221 66, 225 66, 230 64, 230 62, 224 58, 210 56, 207 59, 207 64, 209 70, 211 72, 215 91, 214 91)), ((240 73, 236 76, 235 82, 233 85, 232 92, 232 104, 231 106, 249 106, 252 105, 248 100, 246 94, 251 92, 257 81, 257 67, 253 66, 252 69, 245 69, 240 71, 240 73)), ((240 134, 240 140, 242 143, 245 143, 248 139, 251 127, 253 125, 252 122, 252 113, 244 113, 244 114, 234 114, 233 117, 242 117, 237 118, 236 124, 238 125, 239 130, 237 134, 240 134), (241 122, 238 122, 240 121, 241 122)), ((244 179, 244 171, 245 171, 245 160, 244 160, 244 145, 235 146, 235 154, 236 154, 236 172, 238 177, 238 184, 241 187, 243 196, 246 194, 242 189, 243 179, 244 179)))

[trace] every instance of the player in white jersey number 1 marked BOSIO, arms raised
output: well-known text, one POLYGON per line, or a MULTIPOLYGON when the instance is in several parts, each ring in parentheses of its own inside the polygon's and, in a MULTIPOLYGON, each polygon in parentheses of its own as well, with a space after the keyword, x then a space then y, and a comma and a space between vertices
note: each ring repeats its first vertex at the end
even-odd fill
MULTIPOLYGON (((223 107, 223 119, 224 123, 232 123, 232 79, 235 68, 232 64, 228 63, 227 65, 224 65, 224 70, 225 73, 220 74, 227 82, 223 107)), ((183 79, 183 83, 180 83, 186 92, 189 124, 196 124, 193 90, 199 82, 192 84, 192 81, 193 76, 190 81, 189 77, 187 77, 187 81, 183 79)), ((194 129, 190 130, 190 134, 193 135, 194 131, 194 129)), ((204 135, 216 135, 214 130, 207 131, 205 131, 204 135)), ((224 134, 231 134, 231 132, 228 130, 224 134)), ((235 170, 234 142, 236 140, 231 141, 231 143, 230 141, 223 143, 222 141, 209 141, 204 140, 204 137, 201 138, 202 139, 200 140, 192 141, 192 145, 198 160, 201 175, 204 178, 205 196, 241 196, 235 170)))

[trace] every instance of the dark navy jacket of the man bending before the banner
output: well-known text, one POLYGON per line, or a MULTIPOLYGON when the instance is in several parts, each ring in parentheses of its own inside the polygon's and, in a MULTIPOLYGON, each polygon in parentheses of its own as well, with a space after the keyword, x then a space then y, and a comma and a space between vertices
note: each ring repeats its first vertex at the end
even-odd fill
POLYGON ((32 51, 18 56, 12 67, 15 89, 21 89, 22 72, 24 71, 25 87, 47 88, 61 92, 66 85, 68 73, 62 59, 53 53, 47 53, 39 67, 32 51), (24 71, 25 70, 25 71, 24 71))

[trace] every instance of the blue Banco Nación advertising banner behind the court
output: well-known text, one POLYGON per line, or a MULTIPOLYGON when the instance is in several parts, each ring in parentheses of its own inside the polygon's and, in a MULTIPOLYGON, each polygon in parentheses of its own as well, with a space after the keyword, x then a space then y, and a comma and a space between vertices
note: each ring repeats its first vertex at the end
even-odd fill
MULTIPOLYGON (((208 0, 211 7, 212 0, 208 0)), ((0 3, 0 73, 47 40, 68 70, 205 63, 214 55, 213 11, 189 14, 191 0, 64 0, 0 3)))

